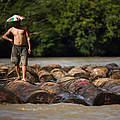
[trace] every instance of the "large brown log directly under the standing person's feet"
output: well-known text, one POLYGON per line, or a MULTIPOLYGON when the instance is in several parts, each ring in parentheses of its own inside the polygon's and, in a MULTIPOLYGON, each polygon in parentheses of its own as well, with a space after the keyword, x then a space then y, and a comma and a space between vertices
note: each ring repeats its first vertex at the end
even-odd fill
POLYGON ((54 95, 47 91, 41 90, 39 87, 28 82, 14 81, 8 83, 5 87, 20 98, 21 103, 54 103, 56 99, 54 95))

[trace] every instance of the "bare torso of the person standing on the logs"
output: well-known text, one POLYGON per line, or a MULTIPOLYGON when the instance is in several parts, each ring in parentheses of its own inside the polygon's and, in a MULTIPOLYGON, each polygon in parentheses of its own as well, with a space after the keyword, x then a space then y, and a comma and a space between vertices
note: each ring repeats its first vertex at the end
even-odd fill
POLYGON ((25 27, 12 27, 11 33, 14 36, 15 45, 26 45, 26 30, 25 27))

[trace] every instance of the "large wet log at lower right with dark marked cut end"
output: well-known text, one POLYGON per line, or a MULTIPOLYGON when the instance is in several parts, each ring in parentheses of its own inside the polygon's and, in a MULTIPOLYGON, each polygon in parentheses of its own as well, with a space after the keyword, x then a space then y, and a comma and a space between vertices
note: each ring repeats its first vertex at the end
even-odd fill
POLYGON ((65 102, 73 102, 84 105, 106 105, 120 103, 120 96, 111 92, 98 89, 87 80, 73 79, 60 83, 71 94, 65 102))

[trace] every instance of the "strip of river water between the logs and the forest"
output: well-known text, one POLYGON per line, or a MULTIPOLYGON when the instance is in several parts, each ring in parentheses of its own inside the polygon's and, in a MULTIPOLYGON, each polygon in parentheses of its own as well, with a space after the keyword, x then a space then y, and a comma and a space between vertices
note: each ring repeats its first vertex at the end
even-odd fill
MULTIPOLYGON (((0 64, 10 64, 10 59, 0 59, 0 64)), ((109 63, 120 64, 120 57, 48 57, 48 58, 29 58, 29 65, 31 64, 60 64, 64 65, 105 65, 109 63)))

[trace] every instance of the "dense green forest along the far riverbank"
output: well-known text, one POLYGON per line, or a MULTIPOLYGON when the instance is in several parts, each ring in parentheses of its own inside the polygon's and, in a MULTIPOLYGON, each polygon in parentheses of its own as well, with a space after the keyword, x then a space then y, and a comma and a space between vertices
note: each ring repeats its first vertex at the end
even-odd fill
POLYGON ((14 14, 25 17, 31 57, 120 56, 120 0, 0 0, 0 57, 11 54, 1 36, 14 14))

